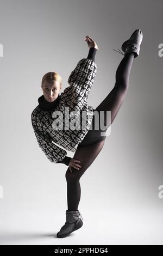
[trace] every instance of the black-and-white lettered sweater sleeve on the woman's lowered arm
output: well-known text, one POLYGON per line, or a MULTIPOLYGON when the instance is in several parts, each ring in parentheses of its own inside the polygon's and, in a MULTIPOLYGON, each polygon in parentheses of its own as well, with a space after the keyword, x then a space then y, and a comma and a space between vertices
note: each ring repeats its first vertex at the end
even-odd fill
MULTIPOLYGON (((39 124, 41 124, 39 122, 39 124)), ((52 143, 52 138, 49 134, 43 130, 42 125, 37 126, 36 121, 32 118, 32 126, 34 129, 34 133, 39 144, 39 147, 47 156, 47 159, 53 163, 57 163, 57 161, 61 161, 66 156, 67 152, 64 149, 61 149, 54 143, 52 143)))

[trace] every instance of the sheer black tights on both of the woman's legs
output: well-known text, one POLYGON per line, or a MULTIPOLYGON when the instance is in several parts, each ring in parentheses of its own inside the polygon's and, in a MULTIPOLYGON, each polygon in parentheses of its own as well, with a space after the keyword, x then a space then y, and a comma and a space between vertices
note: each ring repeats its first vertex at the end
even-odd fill
MULTIPOLYGON (((134 53, 127 53, 120 64, 118 65, 116 71, 116 82, 114 88, 105 97, 101 104, 96 108, 98 111, 111 111, 111 123, 114 121, 118 110, 120 109, 128 89, 129 75, 131 70, 131 65, 133 63, 134 53)), ((106 118, 106 115, 105 115, 106 118)), ((105 125, 106 120, 105 120, 105 125)), ((108 128, 108 126, 107 126, 108 128)), ((80 201, 80 178, 84 174, 85 170, 89 168, 92 162, 96 159, 99 152, 102 150, 104 141, 77 147, 77 150, 73 156, 73 159, 80 160, 80 165, 82 168, 79 170, 72 167, 72 173, 68 167, 65 177, 67 181, 67 205, 69 211, 78 210, 78 205, 80 201)))

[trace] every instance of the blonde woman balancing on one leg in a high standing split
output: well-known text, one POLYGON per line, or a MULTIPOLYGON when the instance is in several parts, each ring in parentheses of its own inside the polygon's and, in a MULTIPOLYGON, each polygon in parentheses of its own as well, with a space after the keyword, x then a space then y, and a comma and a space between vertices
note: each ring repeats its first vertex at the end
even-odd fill
MULTIPOLYGON (((49 161, 64 163, 68 166, 65 174, 68 205, 66 222, 57 233, 57 237, 66 237, 83 225, 83 218, 80 218, 78 210, 81 193, 79 180, 102 150, 106 138, 105 132, 114 121, 126 97, 131 65, 133 59, 139 56, 142 38, 141 30, 136 29, 130 39, 122 44, 121 48, 124 53, 121 51, 120 53, 124 57, 116 70, 115 86, 96 109, 87 105, 87 96, 96 77, 95 54, 99 49, 90 36, 86 36, 85 39, 90 48, 89 54, 87 58, 81 59, 71 72, 68 78, 70 86, 63 93, 59 93, 62 82, 59 74, 48 72, 42 78, 43 95, 39 97, 39 105, 32 112, 32 125, 35 136, 49 161), (71 119, 74 115, 67 115, 66 107, 68 107, 68 113, 75 112, 77 115, 79 114, 78 119, 75 119, 78 121, 74 126, 72 125, 74 124, 74 119, 71 119), (81 119, 80 114, 82 112, 85 113, 84 129, 65 129, 67 116, 68 125, 71 123, 70 120, 72 121, 71 128, 81 128, 80 125, 81 120, 83 122, 83 118, 81 119), (101 112, 105 113, 103 117, 105 129, 101 129, 101 127, 97 129, 95 124, 99 123, 99 119, 95 118, 95 112, 99 114, 101 112), (110 122, 108 122, 106 112, 111 112, 110 122), (55 119, 57 115, 59 115, 59 118, 55 119), (65 119, 63 119, 63 116, 65 119), (57 126, 56 120, 60 124, 59 126, 57 126), (75 151, 73 158, 66 156, 66 150, 58 147, 58 145, 72 152, 75 151)), ((100 120, 102 119, 100 118, 100 120)))

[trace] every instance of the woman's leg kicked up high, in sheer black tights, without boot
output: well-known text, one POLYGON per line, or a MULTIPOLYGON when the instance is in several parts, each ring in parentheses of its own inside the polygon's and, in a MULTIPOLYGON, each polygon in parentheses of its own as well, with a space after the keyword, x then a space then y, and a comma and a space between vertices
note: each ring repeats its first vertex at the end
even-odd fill
MULTIPOLYGON (((114 121, 116 114, 126 97, 133 59, 134 53, 127 53, 123 57, 116 71, 116 82, 114 88, 96 108, 98 111, 111 111, 111 123, 114 121)), ((104 124, 107 128, 110 125, 106 123, 106 114, 104 124)))

